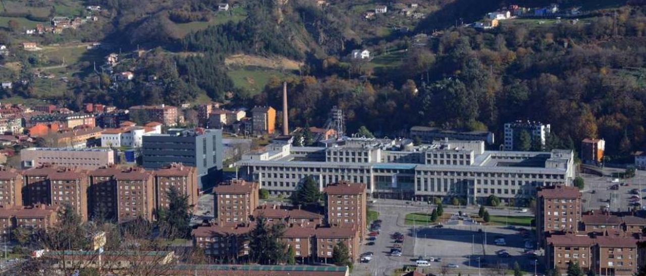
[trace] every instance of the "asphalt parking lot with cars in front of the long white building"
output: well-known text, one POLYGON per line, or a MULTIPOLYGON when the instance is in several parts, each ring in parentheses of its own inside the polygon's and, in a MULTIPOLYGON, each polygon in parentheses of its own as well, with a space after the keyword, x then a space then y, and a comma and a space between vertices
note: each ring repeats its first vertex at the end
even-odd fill
MULTIPOLYGON (((518 229, 480 226, 458 220, 446 222, 442 228, 416 227, 404 225, 403 218, 411 210, 382 208, 381 211, 380 235, 374 245, 362 246, 362 252, 370 251, 373 257, 368 263, 355 264, 353 275, 391 275, 393 270, 404 265, 415 265, 419 257, 429 261, 432 258, 430 266, 423 268, 424 273, 474 275, 478 273, 478 262, 481 273, 500 267, 513 269, 514 262, 518 262, 527 273, 533 273, 535 268, 539 273, 543 271, 541 264, 534 266, 530 256, 525 254, 526 240, 534 248, 536 246, 536 239, 530 231, 523 237, 518 229), (395 232, 404 234, 402 255, 399 257, 390 255, 395 244, 391 234, 395 232), (505 239, 505 245, 495 244, 495 239, 499 238, 505 239), (505 250, 506 254, 499 255, 497 252, 501 250, 505 250), (453 265, 457 265, 457 268, 449 268, 453 265)), ((543 255, 541 251, 536 253, 543 255)))

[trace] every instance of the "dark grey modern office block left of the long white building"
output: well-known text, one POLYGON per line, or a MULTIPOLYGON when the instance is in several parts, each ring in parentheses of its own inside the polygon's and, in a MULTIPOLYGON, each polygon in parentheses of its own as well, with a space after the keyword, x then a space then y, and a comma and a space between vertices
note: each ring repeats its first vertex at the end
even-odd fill
POLYGON ((170 163, 194 166, 200 189, 214 186, 222 172, 222 130, 171 128, 165 134, 143 135, 144 168, 163 168, 170 163))

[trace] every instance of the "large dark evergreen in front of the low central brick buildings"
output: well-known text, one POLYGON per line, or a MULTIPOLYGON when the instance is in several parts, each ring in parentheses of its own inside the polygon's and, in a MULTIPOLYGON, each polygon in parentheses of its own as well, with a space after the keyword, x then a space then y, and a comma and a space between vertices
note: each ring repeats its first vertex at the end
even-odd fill
POLYGON ((258 217, 256 227, 249 233, 251 261, 260 264, 278 264, 286 261, 286 245, 280 241, 284 224, 267 225, 266 219, 258 217))

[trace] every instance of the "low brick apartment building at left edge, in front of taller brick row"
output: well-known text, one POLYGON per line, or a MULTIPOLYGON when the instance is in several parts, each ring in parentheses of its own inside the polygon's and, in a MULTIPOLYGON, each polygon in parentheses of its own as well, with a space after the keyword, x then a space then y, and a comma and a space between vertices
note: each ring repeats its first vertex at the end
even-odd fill
POLYGON ((0 234, 9 238, 16 228, 47 230, 56 224, 57 210, 44 204, 0 207, 0 234))

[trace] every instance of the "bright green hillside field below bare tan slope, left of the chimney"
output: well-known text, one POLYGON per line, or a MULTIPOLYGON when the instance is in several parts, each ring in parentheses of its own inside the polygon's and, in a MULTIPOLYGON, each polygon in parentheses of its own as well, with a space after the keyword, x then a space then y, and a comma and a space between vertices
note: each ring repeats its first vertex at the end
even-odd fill
POLYGON ((291 75, 268 69, 236 69, 229 70, 227 74, 236 87, 247 90, 251 95, 260 93, 271 77, 282 79, 291 75))

